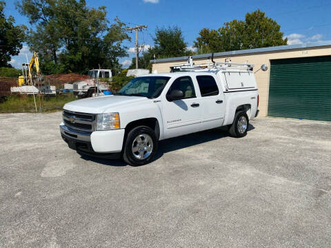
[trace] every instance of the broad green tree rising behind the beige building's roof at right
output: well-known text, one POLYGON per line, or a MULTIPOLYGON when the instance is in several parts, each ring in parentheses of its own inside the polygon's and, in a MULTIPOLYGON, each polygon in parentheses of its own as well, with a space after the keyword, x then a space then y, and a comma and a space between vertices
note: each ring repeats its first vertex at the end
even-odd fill
POLYGON ((245 21, 234 19, 218 30, 203 28, 194 47, 198 53, 206 53, 286 45, 288 40, 280 29, 276 21, 256 10, 245 14, 245 21))

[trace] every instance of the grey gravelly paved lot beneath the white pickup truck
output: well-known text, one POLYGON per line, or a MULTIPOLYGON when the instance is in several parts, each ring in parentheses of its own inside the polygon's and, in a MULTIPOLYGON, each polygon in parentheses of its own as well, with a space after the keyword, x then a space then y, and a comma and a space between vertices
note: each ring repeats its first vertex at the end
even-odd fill
POLYGON ((131 167, 79 156, 60 122, 0 114, 1 247, 331 247, 331 123, 257 118, 131 167))

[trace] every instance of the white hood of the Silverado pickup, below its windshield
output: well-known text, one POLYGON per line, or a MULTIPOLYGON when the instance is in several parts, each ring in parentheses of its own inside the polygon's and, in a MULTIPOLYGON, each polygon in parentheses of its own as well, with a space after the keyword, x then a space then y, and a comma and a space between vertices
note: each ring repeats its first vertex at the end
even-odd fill
POLYGON ((81 113, 102 114, 106 110, 107 112, 119 112, 123 105, 133 105, 148 100, 148 98, 141 96, 99 96, 72 101, 64 105, 63 109, 81 113))

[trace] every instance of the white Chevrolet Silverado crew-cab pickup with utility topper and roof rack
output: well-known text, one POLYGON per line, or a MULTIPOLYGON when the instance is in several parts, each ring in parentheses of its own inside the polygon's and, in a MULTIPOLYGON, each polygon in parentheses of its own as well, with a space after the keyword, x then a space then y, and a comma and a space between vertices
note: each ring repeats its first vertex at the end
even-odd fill
POLYGON ((186 66, 136 77, 112 96, 67 103, 60 130, 79 154, 144 165, 165 138, 221 126, 245 136, 258 105, 252 65, 186 66))

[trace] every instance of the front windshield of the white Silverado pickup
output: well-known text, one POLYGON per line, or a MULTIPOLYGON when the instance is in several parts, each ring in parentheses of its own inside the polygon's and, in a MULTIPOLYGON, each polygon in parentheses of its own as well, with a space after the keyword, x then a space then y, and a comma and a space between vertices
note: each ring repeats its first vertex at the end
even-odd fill
POLYGON ((124 85, 116 94, 122 96, 144 96, 155 98, 159 96, 168 83, 168 76, 141 76, 132 79, 124 85))

